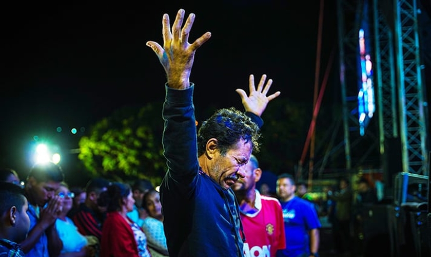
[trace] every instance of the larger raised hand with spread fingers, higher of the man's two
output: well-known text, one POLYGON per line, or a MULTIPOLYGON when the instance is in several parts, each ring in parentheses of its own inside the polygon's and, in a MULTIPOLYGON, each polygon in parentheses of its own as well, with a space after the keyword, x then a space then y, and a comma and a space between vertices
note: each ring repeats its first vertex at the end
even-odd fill
POLYGON ((148 41, 146 44, 159 57, 159 61, 166 72, 168 86, 175 89, 184 89, 190 86, 189 78, 194 53, 211 37, 211 33, 206 32, 192 44, 188 43, 195 16, 194 13, 190 13, 184 27, 181 28, 184 13, 183 9, 178 11, 172 29, 169 24, 169 15, 163 15, 163 47, 154 41, 148 41))

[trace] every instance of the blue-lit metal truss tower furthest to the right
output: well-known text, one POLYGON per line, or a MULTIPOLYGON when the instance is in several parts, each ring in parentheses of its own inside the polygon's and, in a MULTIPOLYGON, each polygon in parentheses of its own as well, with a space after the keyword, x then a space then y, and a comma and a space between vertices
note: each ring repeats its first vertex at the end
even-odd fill
POLYGON ((395 0, 396 70, 404 172, 428 175, 417 0, 395 0))

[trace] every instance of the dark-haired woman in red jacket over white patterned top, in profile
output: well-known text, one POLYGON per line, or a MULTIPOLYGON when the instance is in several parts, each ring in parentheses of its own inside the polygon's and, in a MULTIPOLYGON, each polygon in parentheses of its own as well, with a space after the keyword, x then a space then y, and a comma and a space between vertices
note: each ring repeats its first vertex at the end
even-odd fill
POLYGON ((149 257, 147 237, 138 224, 127 217, 135 200, 129 185, 113 182, 100 195, 107 206, 102 228, 101 257, 149 257))

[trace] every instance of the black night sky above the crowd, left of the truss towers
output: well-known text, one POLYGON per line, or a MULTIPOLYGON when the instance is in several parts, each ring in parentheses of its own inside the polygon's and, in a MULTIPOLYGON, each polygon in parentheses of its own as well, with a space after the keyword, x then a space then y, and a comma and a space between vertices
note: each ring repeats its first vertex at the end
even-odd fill
MULTIPOLYGON (((164 70, 145 43, 163 43, 162 15, 173 22, 179 8, 196 14, 189 41, 212 33, 190 78, 197 109, 240 104, 234 89, 247 89, 249 74, 267 74, 280 97, 312 102, 319 1, 179 2, 3 6, 1 165, 25 173, 34 135, 76 143, 72 127, 88 128, 123 106, 163 101, 164 70)), ((336 43, 328 2, 321 70, 336 43)))

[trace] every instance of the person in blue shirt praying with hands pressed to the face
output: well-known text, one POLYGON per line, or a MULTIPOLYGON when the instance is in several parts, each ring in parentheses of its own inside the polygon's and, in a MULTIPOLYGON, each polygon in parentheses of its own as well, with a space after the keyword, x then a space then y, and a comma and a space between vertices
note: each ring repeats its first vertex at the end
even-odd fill
POLYGON ((30 231, 21 242, 27 256, 58 256, 63 247, 55 229, 62 198, 55 194, 64 180, 63 170, 53 162, 36 163, 27 176, 24 187, 28 199, 27 214, 30 231))

